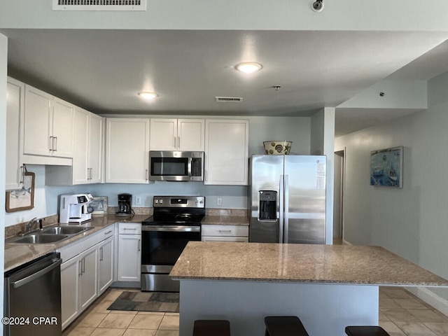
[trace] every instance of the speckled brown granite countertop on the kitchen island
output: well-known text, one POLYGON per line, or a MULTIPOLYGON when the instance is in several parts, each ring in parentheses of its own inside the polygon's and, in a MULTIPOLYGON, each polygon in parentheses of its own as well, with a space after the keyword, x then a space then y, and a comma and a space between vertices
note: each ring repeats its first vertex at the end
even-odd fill
POLYGON ((190 241, 172 279, 448 286, 379 246, 190 241))

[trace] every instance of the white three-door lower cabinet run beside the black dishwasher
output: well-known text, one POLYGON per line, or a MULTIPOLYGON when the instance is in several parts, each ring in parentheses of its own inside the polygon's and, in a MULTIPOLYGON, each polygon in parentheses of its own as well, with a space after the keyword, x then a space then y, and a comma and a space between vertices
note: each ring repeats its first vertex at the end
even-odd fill
POLYGON ((113 281, 113 226, 59 250, 62 330, 113 281))

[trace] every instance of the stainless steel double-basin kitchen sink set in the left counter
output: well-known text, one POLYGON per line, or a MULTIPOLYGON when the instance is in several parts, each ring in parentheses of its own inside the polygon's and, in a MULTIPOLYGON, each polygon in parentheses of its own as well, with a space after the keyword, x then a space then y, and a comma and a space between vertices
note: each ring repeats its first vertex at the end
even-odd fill
POLYGON ((6 244, 55 244, 94 229, 93 226, 50 226, 6 239, 6 244))

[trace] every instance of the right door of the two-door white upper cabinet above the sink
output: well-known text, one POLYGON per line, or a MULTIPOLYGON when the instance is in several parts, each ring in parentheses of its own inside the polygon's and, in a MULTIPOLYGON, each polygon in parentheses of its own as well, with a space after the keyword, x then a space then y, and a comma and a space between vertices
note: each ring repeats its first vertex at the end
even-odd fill
POLYGON ((52 114, 52 155, 73 158, 73 117, 75 106, 55 98, 52 114))

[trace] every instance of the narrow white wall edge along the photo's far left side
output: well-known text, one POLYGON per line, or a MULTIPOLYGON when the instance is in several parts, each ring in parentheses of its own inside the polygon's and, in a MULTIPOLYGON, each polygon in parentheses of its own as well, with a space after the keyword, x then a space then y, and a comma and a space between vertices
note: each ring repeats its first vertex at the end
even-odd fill
MULTIPOLYGON (((0 34, 0 204, 5 204, 5 162, 6 159, 6 71, 8 64, 8 38, 0 34)), ((0 251, 5 249, 5 218, 0 211, 0 251)), ((4 258, 0 258, 0 269, 3 269, 4 258)), ((0 302, 3 302, 3 276, 0 279, 0 302)), ((3 304, 0 306, 0 316, 3 317, 3 304)), ((3 335, 3 328, 0 328, 3 335)))

